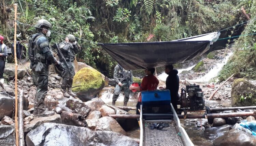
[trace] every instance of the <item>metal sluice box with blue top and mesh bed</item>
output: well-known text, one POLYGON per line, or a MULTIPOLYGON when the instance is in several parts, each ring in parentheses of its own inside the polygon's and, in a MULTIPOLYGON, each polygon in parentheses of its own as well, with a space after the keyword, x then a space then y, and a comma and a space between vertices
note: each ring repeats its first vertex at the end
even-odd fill
POLYGON ((194 146, 181 127, 172 104, 169 90, 142 91, 140 107, 140 146, 194 146), (150 127, 165 123, 168 127, 150 127))

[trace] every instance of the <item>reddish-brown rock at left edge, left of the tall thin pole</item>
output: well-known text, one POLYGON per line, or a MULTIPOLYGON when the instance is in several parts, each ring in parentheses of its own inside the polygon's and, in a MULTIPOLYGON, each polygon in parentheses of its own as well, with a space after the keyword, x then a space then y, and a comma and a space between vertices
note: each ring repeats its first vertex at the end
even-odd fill
POLYGON ((12 97, 0 96, 0 120, 6 115, 12 117, 13 99, 12 97))

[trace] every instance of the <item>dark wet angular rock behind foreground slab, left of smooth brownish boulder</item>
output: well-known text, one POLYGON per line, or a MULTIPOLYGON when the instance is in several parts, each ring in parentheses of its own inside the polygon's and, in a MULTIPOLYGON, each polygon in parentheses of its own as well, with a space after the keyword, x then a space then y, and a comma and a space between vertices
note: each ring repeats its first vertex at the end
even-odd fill
POLYGON ((71 125, 71 126, 81 126, 81 127, 87 126, 85 122, 85 118, 81 114, 63 111, 60 116, 61 116, 61 122, 63 124, 71 125))

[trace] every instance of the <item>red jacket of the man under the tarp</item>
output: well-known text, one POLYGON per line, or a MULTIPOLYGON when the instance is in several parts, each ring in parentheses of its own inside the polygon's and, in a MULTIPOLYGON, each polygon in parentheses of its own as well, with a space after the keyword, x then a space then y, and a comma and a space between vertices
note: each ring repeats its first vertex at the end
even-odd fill
MULTIPOLYGON (((145 77, 142 79, 142 83, 141 83, 141 85, 140 85, 140 91, 146 91, 146 90, 152 91, 152 90, 156 90, 158 84, 159 84, 159 81, 158 81, 158 79, 156 78, 156 76, 154 76, 154 75, 145 76, 145 77)), ((140 93, 138 102, 141 102, 141 93, 140 93)))

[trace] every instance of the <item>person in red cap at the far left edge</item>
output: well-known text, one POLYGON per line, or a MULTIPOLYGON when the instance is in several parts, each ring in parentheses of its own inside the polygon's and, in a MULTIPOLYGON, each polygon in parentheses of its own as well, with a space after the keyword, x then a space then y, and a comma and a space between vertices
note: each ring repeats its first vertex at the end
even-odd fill
POLYGON ((5 67, 5 59, 8 56, 7 47, 3 43, 4 37, 0 35, 0 78, 3 78, 3 72, 5 67))

